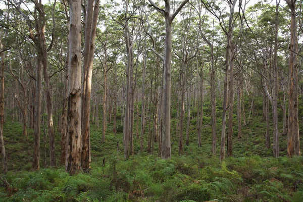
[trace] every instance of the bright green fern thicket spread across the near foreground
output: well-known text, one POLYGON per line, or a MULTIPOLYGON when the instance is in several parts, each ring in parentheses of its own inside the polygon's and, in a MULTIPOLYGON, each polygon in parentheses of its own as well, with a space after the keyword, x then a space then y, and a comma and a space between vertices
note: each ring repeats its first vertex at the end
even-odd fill
POLYGON ((302 201, 303 159, 135 155, 108 157, 89 174, 64 168, 9 172, 1 201, 302 201))

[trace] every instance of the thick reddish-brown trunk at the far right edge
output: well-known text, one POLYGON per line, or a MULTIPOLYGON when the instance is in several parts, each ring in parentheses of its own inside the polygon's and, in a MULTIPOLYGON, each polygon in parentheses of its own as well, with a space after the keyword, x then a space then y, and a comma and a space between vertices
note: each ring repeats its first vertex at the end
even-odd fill
POLYGON ((289 91, 288 91, 288 132, 287 132, 287 157, 300 155, 299 119, 298 119, 298 67, 297 67, 297 24, 296 0, 285 0, 290 13, 290 51, 289 51, 289 91))

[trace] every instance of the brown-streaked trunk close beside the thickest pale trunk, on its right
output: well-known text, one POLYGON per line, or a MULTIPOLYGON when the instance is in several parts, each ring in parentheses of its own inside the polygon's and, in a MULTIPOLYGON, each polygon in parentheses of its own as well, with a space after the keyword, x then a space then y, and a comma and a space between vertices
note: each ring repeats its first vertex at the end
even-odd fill
POLYGON ((91 78, 92 78, 92 65, 93 65, 93 57, 94 57, 94 46, 95 46, 95 37, 96 37, 96 26, 99 12, 99 0, 88 0, 87 7, 90 4, 94 3, 93 11, 86 13, 86 21, 88 19, 92 19, 89 24, 86 22, 86 27, 90 27, 90 29, 86 29, 85 32, 85 42, 88 41, 88 50, 84 55, 84 71, 85 74, 85 93, 83 99, 83 118, 82 118, 82 151, 81 151, 81 167, 84 172, 88 172, 90 168, 90 95, 91 95, 91 78), (92 12, 92 13, 91 13, 92 12), (89 38, 89 39, 87 39, 89 38))

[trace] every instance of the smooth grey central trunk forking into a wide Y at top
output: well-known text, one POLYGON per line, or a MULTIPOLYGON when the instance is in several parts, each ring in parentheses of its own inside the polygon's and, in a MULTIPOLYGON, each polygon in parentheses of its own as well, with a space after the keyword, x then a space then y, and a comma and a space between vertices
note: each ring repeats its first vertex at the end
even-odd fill
POLYGON ((188 2, 185 0, 178 9, 171 14, 171 1, 165 1, 165 9, 159 8, 153 1, 149 3, 165 18, 165 51, 164 51, 164 83, 163 83, 163 129, 162 129, 162 159, 171 158, 171 140, 170 140, 170 108, 171 108, 171 51, 172 51, 172 22, 184 5, 188 2))

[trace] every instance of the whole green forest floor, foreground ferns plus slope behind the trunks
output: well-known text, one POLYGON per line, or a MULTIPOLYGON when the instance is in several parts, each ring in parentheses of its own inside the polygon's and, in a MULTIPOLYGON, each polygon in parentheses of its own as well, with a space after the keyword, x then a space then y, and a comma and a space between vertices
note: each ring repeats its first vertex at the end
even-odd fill
MULTIPOLYGON (((3 174, 1 171, 0 176, 10 186, 6 187, 0 181, 0 201, 301 202, 303 158, 286 157, 287 136, 282 135, 279 137, 280 157, 273 158, 273 145, 270 149, 265 148, 266 123, 261 119, 262 117, 252 118, 249 125, 242 128, 241 139, 237 138, 237 126, 234 127, 233 157, 226 158, 223 162, 219 160, 220 120, 217 123, 218 155, 211 155, 212 128, 208 124, 209 117, 204 120, 203 145, 197 146, 196 120, 192 119, 189 146, 184 145, 184 152, 179 155, 176 120, 173 118, 171 139, 175 142, 172 145, 171 160, 161 160, 158 157, 157 142, 154 144, 154 154, 146 153, 148 124, 143 153, 140 153, 140 140, 135 134, 135 154, 128 160, 123 157, 122 127, 118 127, 119 132, 115 136, 112 124, 109 124, 106 142, 102 143, 102 128, 92 124, 91 171, 89 174, 79 173, 74 176, 65 173, 64 166, 43 168, 43 128, 40 154, 40 166, 43 169, 32 172, 33 131, 29 130, 28 136, 24 137, 22 126, 8 120, 4 135, 9 172, 3 174), (120 145, 119 151, 117 142, 120 145)), ((185 129, 186 127, 184 131, 185 129)), ((59 134, 56 142, 59 165, 59 134)), ((48 164, 47 144, 45 151, 48 164)))

